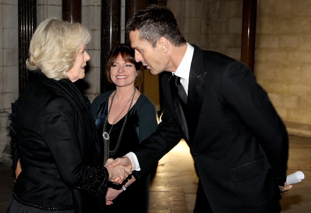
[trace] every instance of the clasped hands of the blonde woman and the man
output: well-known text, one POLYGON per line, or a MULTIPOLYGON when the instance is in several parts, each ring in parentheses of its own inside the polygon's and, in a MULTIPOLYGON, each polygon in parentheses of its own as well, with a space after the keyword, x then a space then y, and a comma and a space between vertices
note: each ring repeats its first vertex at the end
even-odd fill
POLYGON ((105 163, 109 173, 109 181, 115 184, 121 184, 128 175, 132 174, 132 162, 128 157, 109 158, 105 163))

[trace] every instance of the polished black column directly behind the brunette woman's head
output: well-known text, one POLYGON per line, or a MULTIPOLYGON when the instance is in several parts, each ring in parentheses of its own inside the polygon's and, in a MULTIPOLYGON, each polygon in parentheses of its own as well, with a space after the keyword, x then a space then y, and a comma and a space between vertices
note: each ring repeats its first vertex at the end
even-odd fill
POLYGON ((108 82, 105 68, 109 51, 120 43, 121 26, 121 2, 120 0, 101 1, 101 56, 100 56, 100 93, 115 88, 108 82))

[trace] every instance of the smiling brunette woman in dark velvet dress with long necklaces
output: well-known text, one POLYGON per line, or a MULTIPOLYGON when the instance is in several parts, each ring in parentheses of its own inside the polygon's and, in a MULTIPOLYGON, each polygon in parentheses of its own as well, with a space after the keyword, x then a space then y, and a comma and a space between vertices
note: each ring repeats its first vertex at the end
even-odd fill
MULTIPOLYGON (((105 159, 122 157, 133 151, 142 140, 156 131, 156 109, 151 100, 140 93, 142 73, 135 62, 134 50, 125 44, 109 54, 106 75, 116 85, 95 98, 91 113, 105 145, 105 159)), ((130 176, 122 187, 108 184, 105 212, 146 212, 148 207, 149 176, 136 180, 130 176), (135 181, 135 182, 134 182, 135 181)))

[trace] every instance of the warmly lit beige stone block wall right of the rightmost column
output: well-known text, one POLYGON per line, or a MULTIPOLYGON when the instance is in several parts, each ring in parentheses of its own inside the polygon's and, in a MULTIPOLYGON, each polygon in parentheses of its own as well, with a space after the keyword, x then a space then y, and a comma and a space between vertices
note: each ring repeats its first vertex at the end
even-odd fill
POLYGON ((289 133, 311 136, 311 1, 258 2, 256 77, 289 133))

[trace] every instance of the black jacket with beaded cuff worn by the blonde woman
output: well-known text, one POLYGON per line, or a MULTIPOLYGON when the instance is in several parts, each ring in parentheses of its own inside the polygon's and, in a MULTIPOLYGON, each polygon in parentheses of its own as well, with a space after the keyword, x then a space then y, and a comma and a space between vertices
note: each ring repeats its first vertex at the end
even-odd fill
POLYGON ((108 171, 87 99, 77 87, 35 73, 16 117, 22 171, 13 197, 43 210, 99 212, 97 197, 105 195, 108 171))

